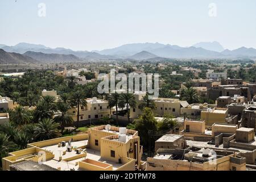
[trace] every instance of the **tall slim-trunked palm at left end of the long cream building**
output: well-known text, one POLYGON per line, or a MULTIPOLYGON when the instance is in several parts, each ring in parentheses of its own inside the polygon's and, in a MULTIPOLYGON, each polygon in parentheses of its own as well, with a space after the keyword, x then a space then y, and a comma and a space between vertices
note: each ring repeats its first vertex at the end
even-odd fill
POLYGON ((78 89, 76 90, 76 92, 74 92, 72 94, 72 97, 71 97, 71 103, 72 105, 76 106, 77 108, 77 120, 76 120, 76 123, 77 123, 77 126, 79 126, 79 117, 80 117, 80 106, 86 106, 87 102, 85 100, 85 94, 84 92, 82 92, 81 89, 78 89))

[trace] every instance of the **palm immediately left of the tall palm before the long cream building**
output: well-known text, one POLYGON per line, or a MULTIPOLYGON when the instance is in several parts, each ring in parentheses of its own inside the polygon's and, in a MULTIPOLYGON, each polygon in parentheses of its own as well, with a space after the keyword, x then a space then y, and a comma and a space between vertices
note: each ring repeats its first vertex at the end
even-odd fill
POLYGON ((57 110, 61 112, 61 115, 57 115, 55 118, 53 118, 53 121, 60 123, 61 133, 63 133, 65 125, 73 123, 72 116, 66 114, 69 109, 70 106, 68 104, 65 104, 64 102, 57 103, 57 110))

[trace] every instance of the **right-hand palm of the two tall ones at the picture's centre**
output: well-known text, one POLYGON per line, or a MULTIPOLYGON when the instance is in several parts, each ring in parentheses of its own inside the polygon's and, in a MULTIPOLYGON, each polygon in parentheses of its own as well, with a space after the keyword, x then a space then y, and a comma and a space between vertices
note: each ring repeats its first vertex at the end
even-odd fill
POLYGON ((122 93, 120 96, 120 106, 125 107, 127 109, 127 118, 128 122, 130 122, 130 111, 129 111, 129 106, 130 108, 135 109, 137 105, 137 102, 135 100, 135 96, 133 93, 122 93))

